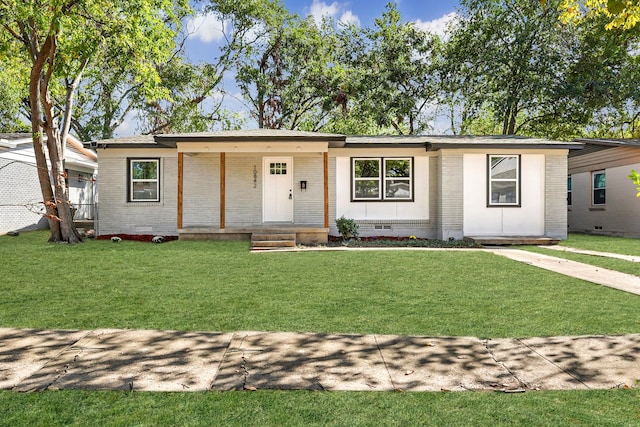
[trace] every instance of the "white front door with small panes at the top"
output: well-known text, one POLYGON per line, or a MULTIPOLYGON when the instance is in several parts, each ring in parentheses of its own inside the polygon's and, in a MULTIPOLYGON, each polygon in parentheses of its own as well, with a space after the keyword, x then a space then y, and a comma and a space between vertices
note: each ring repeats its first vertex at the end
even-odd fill
POLYGON ((265 157, 262 170, 264 222, 293 222, 293 159, 265 157))

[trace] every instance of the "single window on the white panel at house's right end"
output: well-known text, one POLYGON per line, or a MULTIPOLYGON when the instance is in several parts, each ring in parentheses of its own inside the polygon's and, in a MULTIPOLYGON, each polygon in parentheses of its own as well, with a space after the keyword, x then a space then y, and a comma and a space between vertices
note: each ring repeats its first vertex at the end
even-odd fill
POLYGON ((489 155, 489 206, 520 206, 520 156, 489 155))

